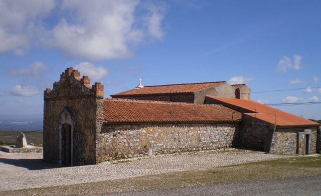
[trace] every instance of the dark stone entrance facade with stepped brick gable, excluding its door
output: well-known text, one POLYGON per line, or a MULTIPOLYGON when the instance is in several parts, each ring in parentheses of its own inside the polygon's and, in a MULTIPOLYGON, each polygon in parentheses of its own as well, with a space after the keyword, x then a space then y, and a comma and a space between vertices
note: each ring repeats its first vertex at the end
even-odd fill
POLYGON ((72 128, 72 165, 95 164, 96 130, 100 130, 103 85, 67 68, 44 94, 44 161, 62 163, 62 124, 72 128))

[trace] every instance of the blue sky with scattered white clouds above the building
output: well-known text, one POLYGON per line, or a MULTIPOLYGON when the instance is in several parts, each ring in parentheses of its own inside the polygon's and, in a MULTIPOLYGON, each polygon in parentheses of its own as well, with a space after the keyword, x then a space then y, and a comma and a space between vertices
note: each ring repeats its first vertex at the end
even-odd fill
MULTIPOLYGON (((0 117, 41 117, 73 66, 105 97, 143 85, 246 83, 263 103, 321 99, 319 0, 2 0, 0 117)), ((320 104, 276 108, 321 119, 320 104)))

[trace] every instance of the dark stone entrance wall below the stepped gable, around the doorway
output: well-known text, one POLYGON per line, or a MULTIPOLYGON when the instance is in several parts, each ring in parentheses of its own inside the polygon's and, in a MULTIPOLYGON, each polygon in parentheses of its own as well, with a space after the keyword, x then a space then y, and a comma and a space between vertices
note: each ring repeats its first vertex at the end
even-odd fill
POLYGON ((71 100, 46 101, 44 117, 44 160, 60 161, 60 116, 58 112, 68 106, 74 112, 73 126, 73 165, 95 163, 94 136, 96 118, 95 99, 81 98, 71 100), (87 105, 87 106, 86 106, 87 105), (83 108, 86 106, 86 109, 83 108), (86 160, 86 161, 85 161, 86 160))

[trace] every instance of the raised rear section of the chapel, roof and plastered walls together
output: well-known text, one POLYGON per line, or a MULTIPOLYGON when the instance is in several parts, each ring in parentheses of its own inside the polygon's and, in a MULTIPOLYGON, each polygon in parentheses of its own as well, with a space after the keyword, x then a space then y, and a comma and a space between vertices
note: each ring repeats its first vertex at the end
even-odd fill
POLYGON ((204 103, 206 96, 250 99, 251 89, 245 84, 230 85, 226 81, 154 85, 134 88, 110 95, 113 98, 165 100, 204 103))

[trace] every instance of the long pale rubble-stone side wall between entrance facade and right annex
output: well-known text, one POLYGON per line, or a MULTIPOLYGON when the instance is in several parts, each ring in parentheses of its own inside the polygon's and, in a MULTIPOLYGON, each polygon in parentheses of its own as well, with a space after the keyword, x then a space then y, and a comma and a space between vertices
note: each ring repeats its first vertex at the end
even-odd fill
POLYGON ((96 139, 96 161, 232 146, 238 123, 103 124, 96 139))

